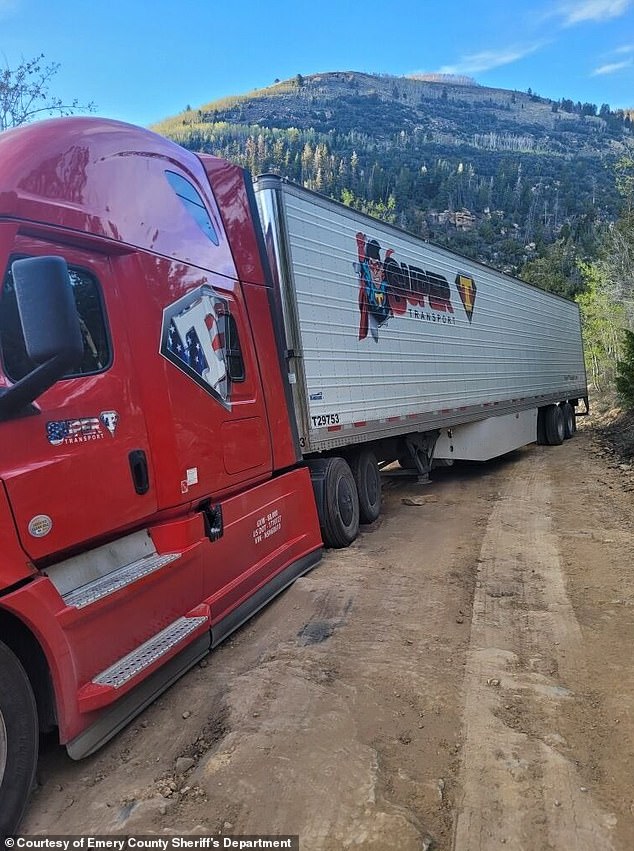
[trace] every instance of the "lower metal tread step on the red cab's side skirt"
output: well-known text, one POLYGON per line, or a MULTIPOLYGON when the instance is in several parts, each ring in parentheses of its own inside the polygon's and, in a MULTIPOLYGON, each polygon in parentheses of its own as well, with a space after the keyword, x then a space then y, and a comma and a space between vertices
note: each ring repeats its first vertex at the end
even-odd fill
MULTIPOLYGON (((198 607, 195 611, 199 613, 204 609, 198 607)), ((142 681, 144 675, 155 669, 164 657, 175 655, 208 629, 208 614, 195 614, 173 621, 83 686, 78 693, 80 711, 89 712, 117 700, 120 693, 128 691, 135 681, 142 681)))

